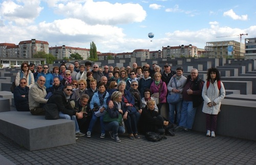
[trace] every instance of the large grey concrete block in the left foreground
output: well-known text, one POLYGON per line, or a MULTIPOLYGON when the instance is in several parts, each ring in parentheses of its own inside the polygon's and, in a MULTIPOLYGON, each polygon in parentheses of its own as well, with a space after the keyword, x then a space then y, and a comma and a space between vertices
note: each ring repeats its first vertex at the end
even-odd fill
POLYGON ((30 112, 1 113, 0 132, 30 151, 76 143, 72 120, 46 120, 30 112))

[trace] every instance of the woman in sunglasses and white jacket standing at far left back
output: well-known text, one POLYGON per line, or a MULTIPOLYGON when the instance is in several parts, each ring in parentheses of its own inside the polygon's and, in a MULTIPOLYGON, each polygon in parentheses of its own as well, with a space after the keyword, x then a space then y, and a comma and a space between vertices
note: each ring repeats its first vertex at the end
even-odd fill
POLYGON ((16 87, 19 86, 19 81, 22 78, 26 78, 27 79, 27 87, 31 87, 35 84, 35 79, 34 79, 34 75, 33 73, 29 70, 29 64, 24 62, 22 63, 21 66, 22 70, 20 70, 17 74, 16 74, 16 78, 15 78, 15 85, 16 87))

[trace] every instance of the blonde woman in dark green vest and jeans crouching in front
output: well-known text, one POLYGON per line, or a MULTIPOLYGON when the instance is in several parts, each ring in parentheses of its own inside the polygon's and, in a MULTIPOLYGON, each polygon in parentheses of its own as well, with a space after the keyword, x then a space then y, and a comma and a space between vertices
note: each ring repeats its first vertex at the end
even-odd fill
MULTIPOLYGON (((119 114, 123 114, 124 102, 122 101, 122 93, 119 91, 115 91, 111 100, 114 103, 113 108, 108 109, 108 113, 111 118, 118 118, 119 114)), ((110 123, 104 123, 104 128, 106 131, 110 132, 110 136, 114 139, 115 142, 121 142, 118 137, 118 133, 124 133, 124 125, 121 125, 118 121, 112 121, 110 123)))

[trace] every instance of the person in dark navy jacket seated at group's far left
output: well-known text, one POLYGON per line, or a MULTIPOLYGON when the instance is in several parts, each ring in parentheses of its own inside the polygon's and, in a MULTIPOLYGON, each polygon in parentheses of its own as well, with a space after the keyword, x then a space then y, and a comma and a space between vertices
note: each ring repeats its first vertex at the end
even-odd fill
POLYGON ((29 111, 29 87, 26 78, 19 80, 19 86, 14 89, 13 97, 17 111, 29 111))

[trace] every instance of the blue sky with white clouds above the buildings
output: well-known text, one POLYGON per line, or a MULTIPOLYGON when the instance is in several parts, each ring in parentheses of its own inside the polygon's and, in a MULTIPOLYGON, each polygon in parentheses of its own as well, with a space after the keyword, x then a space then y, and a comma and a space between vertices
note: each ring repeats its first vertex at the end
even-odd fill
POLYGON ((0 43, 36 39, 90 48, 93 41, 100 52, 118 53, 204 48, 209 41, 239 42, 246 33, 243 42, 256 37, 255 0, 0 0, 0 43))

